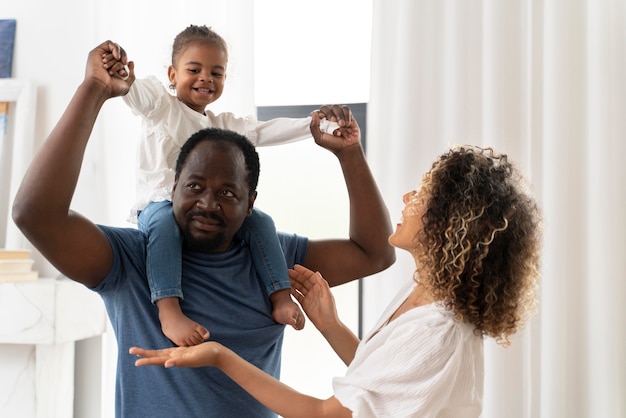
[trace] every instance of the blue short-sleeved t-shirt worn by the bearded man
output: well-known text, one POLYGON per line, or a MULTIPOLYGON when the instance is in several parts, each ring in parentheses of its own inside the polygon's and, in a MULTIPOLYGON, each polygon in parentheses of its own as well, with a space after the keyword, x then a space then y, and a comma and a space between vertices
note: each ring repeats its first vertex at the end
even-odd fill
MULTIPOLYGON (((173 344, 161 331, 146 278, 146 238, 136 229, 100 226, 113 248, 111 271, 93 290, 100 294, 118 346, 116 416, 275 417, 221 371, 211 367, 136 367, 132 346, 173 344)), ((293 267, 306 254, 308 240, 279 234, 293 267)), ((257 278, 248 246, 235 243, 224 253, 183 251, 183 312, 204 325, 218 341, 279 378, 284 325, 272 319, 272 305, 257 278)))

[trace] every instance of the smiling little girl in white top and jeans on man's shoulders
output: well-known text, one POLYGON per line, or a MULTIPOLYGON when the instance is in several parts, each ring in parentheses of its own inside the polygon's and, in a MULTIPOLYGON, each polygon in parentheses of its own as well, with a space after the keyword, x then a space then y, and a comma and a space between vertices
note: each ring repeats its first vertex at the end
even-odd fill
MULTIPOLYGON (((106 68, 112 68, 120 60, 121 48, 103 54, 106 68)), ((209 337, 207 328, 184 315, 180 306, 182 238, 170 203, 173 167, 180 147, 193 133, 206 127, 238 132, 257 146, 285 144, 311 136, 310 117, 259 122, 253 116, 215 115, 208 110, 207 106, 222 95, 227 63, 224 39, 206 26, 190 25, 176 36, 172 48, 168 78, 169 87, 176 95, 170 94, 156 77, 148 77, 134 80, 128 94, 123 96, 124 102, 142 118, 138 201, 133 207, 133 219, 138 217, 138 227, 148 237, 147 274, 163 333, 179 346, 199 344, 209 337)), ((118 75, 132 76, 130 72, 118 75)), ((324 122, 325 130, 337 127, 324 122)), ((291 299, 287 266, 272 219, 254 209, 239 237, 250 247, 255 268, 273 305, 274 320, 302 329, 304 315, 291 299)))

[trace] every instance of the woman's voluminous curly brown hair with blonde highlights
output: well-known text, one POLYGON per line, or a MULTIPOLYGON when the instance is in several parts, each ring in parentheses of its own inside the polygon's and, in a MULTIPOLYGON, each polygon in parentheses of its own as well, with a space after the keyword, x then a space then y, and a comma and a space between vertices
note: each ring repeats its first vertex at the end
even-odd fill
POLYGON ((423 178, 419 280, 504 346, 535 308, 541 213, 507 156, 456 147, 423 178), (422 271, 423 270, 423 271, 422 271))

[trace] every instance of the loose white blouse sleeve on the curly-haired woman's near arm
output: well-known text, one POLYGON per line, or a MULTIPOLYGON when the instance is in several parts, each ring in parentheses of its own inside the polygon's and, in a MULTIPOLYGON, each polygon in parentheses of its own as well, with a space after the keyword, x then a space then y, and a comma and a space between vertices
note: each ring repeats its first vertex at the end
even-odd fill
POLYGON ((437 311, 400 318, 362 344, 346 376, 333 380, 354 417, 437 416, 449 399, 463 358, 461 324, 437 311))

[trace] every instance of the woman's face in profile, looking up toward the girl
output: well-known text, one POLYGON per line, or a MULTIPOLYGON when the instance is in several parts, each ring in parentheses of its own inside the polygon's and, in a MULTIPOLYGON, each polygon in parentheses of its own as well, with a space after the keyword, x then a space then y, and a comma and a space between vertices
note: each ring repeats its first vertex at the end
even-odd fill
POLYGON ((396 225, 396 230, 389 236, 389 244, 396 248, 414 253, 417 247, 415 237, 422 228, 422 216, 426 211, 426 200, 421 192, 414 190, 406 193, 402 200, 402 220, 396 225))

